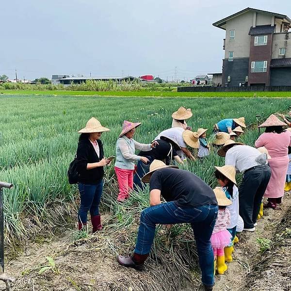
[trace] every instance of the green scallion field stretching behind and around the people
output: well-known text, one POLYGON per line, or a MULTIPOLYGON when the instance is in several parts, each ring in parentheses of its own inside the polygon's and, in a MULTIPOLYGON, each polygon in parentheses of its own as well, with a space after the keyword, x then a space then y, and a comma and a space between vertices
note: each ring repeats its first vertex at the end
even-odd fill
MULTIPOLYGON (((33 225, 48 220, 54 208, 60 211, 56 216, 61 216, 64 207, 75 203, 78 194, 76 187, 68 184, 66 171, 76 152, 77 131, 92 116, 111 129, 102 135, 105 155, 110 156, 115 153, 124 119, 142 122, 135 139, 149 143, 171 127, 171 113, 180 106, 192 109, 188 124, 194 130, 208 128, 210 134, 220 119, 244 116, 251 126, 256 123, 256 114, 264 119, 271 113, 287 111, 289 105, 288 98, 1 95, 0 180, 15 185, 5 192, 6 242, 28 238, 33 225), (30 217, 33 221, 28 221, 30 217)), ((251 129, 242 141, 252 145, 257 137, 258 130, 251 129)), ((212 185, 213 165, 222 163, 211 154, 203 163, 188 162, 184 167, 212 185)), ((105 182, 103 207, 120 216, 113 165, 107 168, 105 182)), ((141 209, 147 205, 146 193, 144 197, 141 209)))

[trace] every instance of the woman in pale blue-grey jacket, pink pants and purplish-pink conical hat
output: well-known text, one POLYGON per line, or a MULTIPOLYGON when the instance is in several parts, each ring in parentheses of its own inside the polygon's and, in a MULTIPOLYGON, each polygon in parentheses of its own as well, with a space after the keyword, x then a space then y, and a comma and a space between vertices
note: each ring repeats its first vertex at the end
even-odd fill
POLYGON ((137 156, 135 150, 150 151, 158 144, 157 142, 140 144, 133 139, 135 129, 140 125, 141 123, 133 123, 125 120, 117 140, 114 170, 119 185, 119 194, 117 197, 117 201, 119 202, 125 201, 129 197, 129 190, 133 189, 134 162, 148 162, 146 157, 137 156))

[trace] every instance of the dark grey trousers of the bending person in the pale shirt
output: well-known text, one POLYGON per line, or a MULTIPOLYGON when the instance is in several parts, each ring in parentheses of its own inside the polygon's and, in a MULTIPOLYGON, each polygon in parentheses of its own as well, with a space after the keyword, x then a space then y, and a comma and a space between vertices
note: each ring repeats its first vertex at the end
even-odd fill
POLYGON ((247 171, 239 188, 240 215, 244 228, 253 228, 257 222, 260 204, 271 178, 270 166, 247 171))

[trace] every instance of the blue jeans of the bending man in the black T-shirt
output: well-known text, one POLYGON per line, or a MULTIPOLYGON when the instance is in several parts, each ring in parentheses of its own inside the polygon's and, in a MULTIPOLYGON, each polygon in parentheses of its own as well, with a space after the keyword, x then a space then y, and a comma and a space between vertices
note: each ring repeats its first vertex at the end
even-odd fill
POLYGON ((157 224, 191 223, 198 251, 202 283, 213 285, 214 258, 210 237, 217 213, 218 206, 215 204, 181 209, 172 201, 148 207, 141 213, 134 252, 140 255, 150 252, 157 224))

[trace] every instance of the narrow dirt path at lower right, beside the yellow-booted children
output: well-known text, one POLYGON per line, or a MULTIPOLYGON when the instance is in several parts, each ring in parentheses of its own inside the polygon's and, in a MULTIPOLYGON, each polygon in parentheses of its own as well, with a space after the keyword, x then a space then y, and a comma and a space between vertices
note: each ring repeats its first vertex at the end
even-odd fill
POLYGON ((245 277, 252 271, 254 261, 256 261, 255 258, 259 257, 259 243, 257 239, 272 239, 276 226, 290 207, 291 193, 285 193, 284 202, 277 210, 264 210, 264 215, 258 221, 258 226, 256 226, 254 233, 243 231, 238 235, 240 241, 235 246, 234 260, 227 264, 228 270, 225 275, 215 276, 214 291, 247 290, 243 289, 242 286, 246 285, 245 277))

